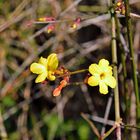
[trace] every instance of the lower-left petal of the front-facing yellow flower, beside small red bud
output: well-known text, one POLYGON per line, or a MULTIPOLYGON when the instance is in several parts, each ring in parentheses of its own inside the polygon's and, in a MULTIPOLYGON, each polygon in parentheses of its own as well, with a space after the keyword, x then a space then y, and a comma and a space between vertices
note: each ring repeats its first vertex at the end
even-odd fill
POLYGON ((88 78, 88 84, 90 86, 97 86, 97 85, 99 85, 99 81, 100 81, 99 75, 90 76, 88 78))

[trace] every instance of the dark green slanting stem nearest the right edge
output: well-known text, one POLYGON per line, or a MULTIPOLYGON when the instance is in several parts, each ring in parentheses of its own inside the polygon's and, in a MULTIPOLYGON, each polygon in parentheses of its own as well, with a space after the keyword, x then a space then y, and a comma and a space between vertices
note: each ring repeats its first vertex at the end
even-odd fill
POLYGON ((133 83, 134 83, 134 91, 136 95, 136 112, 137 112, 137 121, 140 119, 140 112, 139 112, 139 88, 138 88, 138 79, 136 74, 136 64, 134 59, 134 50, 133 50, 133 41, 132 41, 132 24, 130 18, 130 9, 129 9, 129 1, 125 0, 125 16, 126 16, 126 25, 127 25, 127 37, 128 37, 128 45, 130 50, 130 60, 133 72, 133 83))

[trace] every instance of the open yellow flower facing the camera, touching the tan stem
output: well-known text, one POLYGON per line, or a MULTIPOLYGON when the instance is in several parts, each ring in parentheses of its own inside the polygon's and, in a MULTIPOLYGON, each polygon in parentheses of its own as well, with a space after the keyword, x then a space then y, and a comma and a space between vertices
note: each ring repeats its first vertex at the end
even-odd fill
POLYGON ((97 64, 91 64, 89 66, 89 72, 92 74, 88 78, 88 84, 90 86, 98 86, 99 91, 102 94, 108 93, 108 86, 115 88, 116 79, 112 76, 112 67, 109 66, 108 60, 101 59, 97 64))

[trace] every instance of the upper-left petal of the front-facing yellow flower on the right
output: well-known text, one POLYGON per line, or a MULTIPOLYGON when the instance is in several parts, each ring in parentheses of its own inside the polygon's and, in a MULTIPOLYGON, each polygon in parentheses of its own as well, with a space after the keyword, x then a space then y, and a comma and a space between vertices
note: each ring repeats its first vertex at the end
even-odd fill
POLYGON ((100 74, 102 72, 101 68, 97 64, 91 64, 89 66, 89 72, 94 75, 94 74, 100 74))

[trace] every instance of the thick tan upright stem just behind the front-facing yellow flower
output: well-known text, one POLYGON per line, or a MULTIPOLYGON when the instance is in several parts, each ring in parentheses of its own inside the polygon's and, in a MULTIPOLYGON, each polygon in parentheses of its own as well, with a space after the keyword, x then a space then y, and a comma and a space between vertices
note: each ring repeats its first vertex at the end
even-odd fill
MULTIPOLYGON (((113 6, 113 0, 110 0, 111 6, 113 6)), ((114 102, 115 102, 115 120, 120 121, 120 105, 119 105, 119 91, 118 91, 118 72, 117 72, 117 44, 116 44, 116 24, 115 24, 115 11, 111 8, 111 24, 112 24, 112 63, 116 64, 113 67, 114 77, 116 79, 116 87, 114 89, 114 102)), ((121 128, 120 125, 117 126, 117 140, 121 140, 121 128)))

